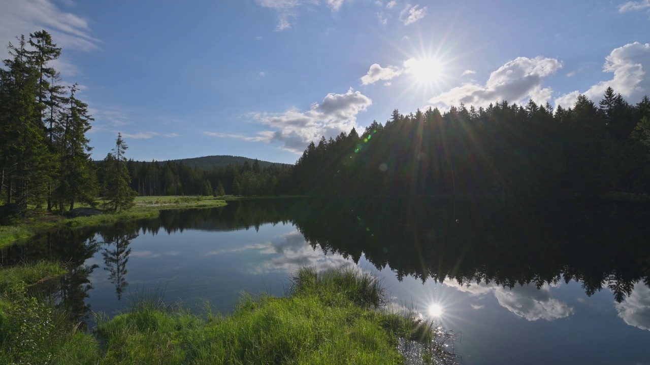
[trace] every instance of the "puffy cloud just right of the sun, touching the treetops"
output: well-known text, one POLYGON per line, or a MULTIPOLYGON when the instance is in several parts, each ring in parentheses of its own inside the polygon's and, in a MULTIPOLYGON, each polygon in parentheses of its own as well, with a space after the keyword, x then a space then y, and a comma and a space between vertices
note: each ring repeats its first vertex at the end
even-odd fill
POLYGON ((502 100, 521 103, 530 98, 543 104, 552 96, 551 88, 542 87, 543 78, 560 68, 562 62, 556 58, 518 57, 493 71, 485 85, 466 82, 432 97, 428 102, 443 108, 460 103, 486 107, 502 100))

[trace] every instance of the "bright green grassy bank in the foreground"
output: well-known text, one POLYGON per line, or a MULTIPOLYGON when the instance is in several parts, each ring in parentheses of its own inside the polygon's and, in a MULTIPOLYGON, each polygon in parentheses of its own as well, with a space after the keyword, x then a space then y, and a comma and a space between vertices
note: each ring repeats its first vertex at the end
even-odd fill
MULTIPOLYGON (((25 324, 3 323, 0 362, 399 364, 404 359, 398 338, 436 343, 430 323, 382 310, 383 288, 376 277, 304 268, 292 281, 290 296, 244 296, 227 317, 209 310, 196 316, 158 297, 140 297, 115 318, 100 316, 94 334, 65 325, 57 329, 51 324, 57 323, 57 314, 47 305, 33 299, 14 301, 18 304, 12 313, 25 324), (49 337, 44 340, 34 333, 49 337), (27 353, 21 344, 35 352, 27 353)), ((7 318, 6 311, 2 318, 7 318)))

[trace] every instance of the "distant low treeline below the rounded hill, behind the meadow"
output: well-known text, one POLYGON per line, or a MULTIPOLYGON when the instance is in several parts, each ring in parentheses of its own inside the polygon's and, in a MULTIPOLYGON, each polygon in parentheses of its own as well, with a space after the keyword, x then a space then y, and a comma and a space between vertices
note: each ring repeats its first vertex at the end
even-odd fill
MULTIPOLYGON (((104 162, 99 164, 100 179, 107 174, 105 166, 104 162)), ((126 168, 131 189, 140 195, 278 195, 291 174, 291 166, 261 167, 258 160, 209 170, 175 161, 128 160, 126 168)))

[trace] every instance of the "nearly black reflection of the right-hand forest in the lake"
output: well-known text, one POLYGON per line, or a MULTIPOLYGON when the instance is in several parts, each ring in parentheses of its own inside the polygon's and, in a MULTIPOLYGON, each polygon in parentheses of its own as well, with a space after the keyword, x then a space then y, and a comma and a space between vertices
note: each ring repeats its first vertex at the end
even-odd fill
POLYGON ((310 205, 296 220, 307 242, 355 261, 363 253, 398 278, 508 288, 575 279, 587 294, 607 287, 621 301, 647 275, 650 207, 643 205, 403 198, 310 205))

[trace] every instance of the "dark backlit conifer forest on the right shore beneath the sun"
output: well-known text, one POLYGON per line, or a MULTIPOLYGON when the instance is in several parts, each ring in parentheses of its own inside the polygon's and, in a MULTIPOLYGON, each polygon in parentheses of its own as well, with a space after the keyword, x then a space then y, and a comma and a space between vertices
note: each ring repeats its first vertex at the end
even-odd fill
POLYGON ((311 143, 289 189, 310 195, 600 194, 650 191, 650 99, 608 88, 595 105, 393 111, 359 136, 311 143))

